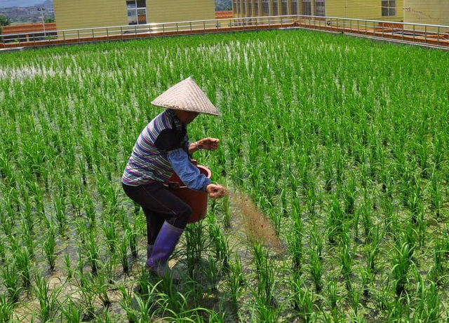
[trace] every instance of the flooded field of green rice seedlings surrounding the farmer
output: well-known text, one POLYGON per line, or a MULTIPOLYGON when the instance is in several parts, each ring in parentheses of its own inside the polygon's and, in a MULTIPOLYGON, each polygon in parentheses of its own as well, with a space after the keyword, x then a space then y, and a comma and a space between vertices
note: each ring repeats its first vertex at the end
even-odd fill
POLYGON ((0 323, 449 322, 448 67, 297 29, 1 53, 0 323), (222 114, 194 157, 231 194, 173 284, 120 179, 188 76, 222 114))

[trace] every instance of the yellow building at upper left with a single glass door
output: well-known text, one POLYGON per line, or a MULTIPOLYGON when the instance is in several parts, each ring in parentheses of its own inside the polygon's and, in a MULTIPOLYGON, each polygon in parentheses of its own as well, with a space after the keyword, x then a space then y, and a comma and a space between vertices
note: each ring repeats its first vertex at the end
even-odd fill
POLYGON ((58 30, 215 19, 214 0, 53 0, 58 30))

